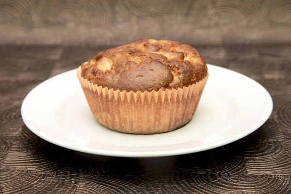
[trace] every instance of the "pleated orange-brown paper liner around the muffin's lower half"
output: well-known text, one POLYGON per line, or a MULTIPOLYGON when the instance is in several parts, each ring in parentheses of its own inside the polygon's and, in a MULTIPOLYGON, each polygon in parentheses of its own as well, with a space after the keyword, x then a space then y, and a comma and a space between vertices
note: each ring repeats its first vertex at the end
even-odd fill
POLYGON ((193 117, 208 79, 165 91, 127 92, 103 88, 77 76, 91 112, 103 126, 124 133, 154 134, 178 129, 193 117))

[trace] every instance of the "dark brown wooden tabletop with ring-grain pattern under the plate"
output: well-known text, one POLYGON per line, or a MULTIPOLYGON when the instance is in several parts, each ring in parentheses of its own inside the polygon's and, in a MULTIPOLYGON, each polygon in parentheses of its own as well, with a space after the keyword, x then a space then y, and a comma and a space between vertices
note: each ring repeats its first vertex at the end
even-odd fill
POLYGON ((105 48, 1 46, 0 193, 291 194, 291 44, 195 48, 209 64, 261 83, 274 100, 271 117, 226 146, 130 159, 53 145, 34 135, 21 119, 22 100, 33 87, 105 48))

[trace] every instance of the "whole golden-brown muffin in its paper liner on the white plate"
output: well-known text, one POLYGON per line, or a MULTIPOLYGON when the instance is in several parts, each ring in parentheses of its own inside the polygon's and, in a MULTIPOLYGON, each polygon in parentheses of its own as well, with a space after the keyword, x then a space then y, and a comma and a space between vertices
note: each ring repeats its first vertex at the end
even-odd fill
POLYGON ((154 134, 192 119, 208 70, 189 45, 140 39, 98 52, 77 76, 99 123, 124 133, 154 134))

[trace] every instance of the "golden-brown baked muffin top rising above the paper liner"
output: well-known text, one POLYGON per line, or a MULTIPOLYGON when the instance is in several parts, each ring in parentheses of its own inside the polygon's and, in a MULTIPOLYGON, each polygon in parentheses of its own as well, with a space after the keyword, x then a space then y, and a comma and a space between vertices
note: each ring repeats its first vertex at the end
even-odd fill
POLYGON ((196 49, 168 40, 136 40, 98 52, 81 65, 82 78, 127 92, 178 89, 206 75, 207 65, 196 49))

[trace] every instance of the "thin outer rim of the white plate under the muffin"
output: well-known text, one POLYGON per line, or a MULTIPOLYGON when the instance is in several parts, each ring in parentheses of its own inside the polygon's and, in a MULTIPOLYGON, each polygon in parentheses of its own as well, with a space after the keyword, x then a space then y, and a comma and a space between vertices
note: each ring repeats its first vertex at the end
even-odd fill
POLYGON ((210 144, 206 144, 206 145, 202 145, 202 146, 194 146, 194 147, 187 147, 187 148, 179 148, 179 149, 172 149, 172 150, 160 150, 160 151, 148 151, 148 152, 136 152, 136 151, 120 151, 120 150, 104 150, 104 149, 96 149, 96 148, 86 148, 86 147, 82 147, 82 146, 77 146, 77 145, 71 145, 69 143, 64 143, 62 141, 56 140, 53 137, 51 137, 51 135, 47 135, 43 132, 40 132, 38 129, 35 129, 34 127, 32 127, 32 124, 29 122, 29 119, 26 118, 25 115, 25 104, 28 101, 28 99, 30 98, 31 95, 33 95, 33 91, 37 90, 38 87, 40 87, 42 84, 44 84, 45 82, 50 81, 51 79, 54 79, 56 77, 62 76, 65 73, 69 73, 71 71, 75 71, 77 69, 72 69, 72 70, 68 70, 65 71, 63 73, 60 73, 58 75, 55 75, 41 83, 39 83, 38 85, 36 85, 24 98, 22 104, 21 104, 21 117, 22 120, 24 122, 24 124, 27 126, 28 129, 30 129, 35 135, 37 135, 38 137, 52 143, 55 144, 57 146, 62 146, 71 150, 75 150, 75 151, 80 151, 80 152, 84 152, 84 153, 89 153, 89 154, 96 154, 96 155, 103 155, 103 156, 113 156, 113 157, 130 157, 130 158, 153 158, 153 157, 166 157, 166 156, 176 156, 176 155, 183 155, 183 154, 190 154, 190 153, 195 153, 195 152, 200 152, 200 151, 205 151, 205 150, 209 150, 209 149, 213 149, 213 148, 217 148, 220 146, 225 146, 227 144, 230 144, 232 142, 235 142, 247 135, 249 135, 250 133, 254 132, 255 130, 259 129, 259 127, 261 127, 271 116, 272 112, 273 112, 273 108, 274 108, 274 104, 273 104, 273 99, 270 95, 270 93, 267 91, 267 89, 262 86, 258 81, 253 80, 250 77, 247 77, 245 75, 243 75, 242 73, 236 72, 234 70, 225 68, 225 67, 221 67, 221 66, 217 66, 217 65, 211 65, 211 64, 207 64, 208 66, 213 66, 215 68, 222 68, 223 70, 226 71, 231 71, 231 73, 235 73, 235 74, 239 74, 240 76, 244 77, 245 79, 249 79, 257 84, 259 84, 259 86, 261 87, 261 89, 265 90, 266 92, 266 97, 268 98, 268 101, 270 102, 270 108, 268 109, 269 112, 266 113, 265 117, 262 117, 257 123, 256 125, 253 126, 252 129, 248 129, 248 130, 242 130, 240 133, 237 133, 235 135, 232 135, 230 137, 227 137, 225 139, 222 139, 220 141, 217 142, 213 142, 210 144))

